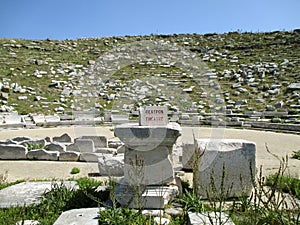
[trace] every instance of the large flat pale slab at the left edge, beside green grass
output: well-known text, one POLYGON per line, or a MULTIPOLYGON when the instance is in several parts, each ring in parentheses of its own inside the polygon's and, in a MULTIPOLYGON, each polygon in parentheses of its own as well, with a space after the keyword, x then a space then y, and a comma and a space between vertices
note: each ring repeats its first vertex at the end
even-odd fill
POLYGON ((64 185, 69 189, 78 189, 77 182, 23 182, 0 190, 0 208, 39 204, 41 196, 55 185, 64 185))

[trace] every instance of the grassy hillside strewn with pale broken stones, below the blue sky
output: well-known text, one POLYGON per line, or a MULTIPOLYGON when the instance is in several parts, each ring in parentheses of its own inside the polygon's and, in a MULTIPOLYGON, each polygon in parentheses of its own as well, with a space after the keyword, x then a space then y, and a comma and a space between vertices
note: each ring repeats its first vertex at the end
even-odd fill
MULTIPOLYGON (((189 103, 189 107, 178 109, 173 103, 168 104, 174 111, 208 115, 212 107, 218 109, 219 106, 226 109, 227 114, 279 112, 278 115, 291 115, 285 122, 297 123, 300 117, 299 65, 299 30, 63 41, 0 39, 0 111, 66 114, 93 106, 101 113, 114 109, 115 103, 124 96, 134 101, 117 109, 134 111, 140 104, 165 104, 170 100, 170 96, 162 96, 159 91, 156 96, 152 92, 148 95, 149 85, 139 85, 140 80, 156 77, 156 80, 168 79, 170 87, 177 85, 184 93, 177 91, 171 98, 189 96, 192 104, 189 103), (104 82, 95 77, 91 68, 99 66, 99 57, 141 40, 177 44, 196 54, 208 68, 208 80, 218 84, 215 85, 219 89, 215 106, 207 101, 209 93, 197 88, 192 76, 171 63, 162 66, 139 62, 120 68, 111 80, 104 82), (90 85, 96 89, 86 90, 90 85), (77 96, 85 103, 78 103, 77 96)), ((163 84, 150 85, 152 89, 160 86, 163 84)), ((274 114, 273 119, 277 117, 274 114)))

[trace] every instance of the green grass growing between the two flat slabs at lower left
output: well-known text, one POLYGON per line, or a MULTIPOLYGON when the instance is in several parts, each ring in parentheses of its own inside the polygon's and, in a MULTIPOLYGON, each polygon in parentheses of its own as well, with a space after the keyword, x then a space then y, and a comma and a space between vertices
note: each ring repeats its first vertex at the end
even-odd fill
MULTIPOLYGON (((52 190, 43 195, 42 202, 27 207, 0 209, 0 224, 11 225, 21 220, 38 220, 40 224, 52 225, 59 215, 70 209, 97 207, 108 197, 108 193, 95 192, 101 183, 88 178, 78 180, 79 190, 70 190, 62 184, 53 184, 52 190)), ((7 185, 0 185, 0 188, 7 185)))

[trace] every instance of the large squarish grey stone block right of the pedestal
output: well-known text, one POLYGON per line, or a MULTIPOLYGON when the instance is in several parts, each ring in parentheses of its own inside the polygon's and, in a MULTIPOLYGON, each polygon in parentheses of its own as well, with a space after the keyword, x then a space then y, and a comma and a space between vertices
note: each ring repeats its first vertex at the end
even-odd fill
POLYGON ((230 198, 251 193, 256 173, 255 143, 239 139, 196 139, 196 144, 193 185, 198 196, 214 198, 223 194, 230 198))

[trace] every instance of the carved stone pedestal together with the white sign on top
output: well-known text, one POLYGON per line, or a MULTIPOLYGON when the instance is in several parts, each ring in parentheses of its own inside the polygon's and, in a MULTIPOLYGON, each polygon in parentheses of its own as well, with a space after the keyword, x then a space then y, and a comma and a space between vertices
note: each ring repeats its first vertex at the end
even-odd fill
POLYGON ((172 150, 181 135, 180 126, 168 123, 166 107, 145 107, 139 124, 119 125, 115 135, 125 145, 118 201, 132 208, 163 208, 179 194, 172 150))

